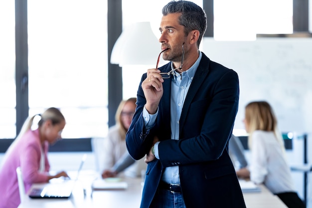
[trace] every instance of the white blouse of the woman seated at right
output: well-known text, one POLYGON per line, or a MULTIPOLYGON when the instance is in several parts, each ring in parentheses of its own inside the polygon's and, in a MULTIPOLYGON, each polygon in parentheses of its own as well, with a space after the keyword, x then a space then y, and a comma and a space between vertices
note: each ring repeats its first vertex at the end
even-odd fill
POLYGON ((253 132, 249 170, 251 181, 263 183, 273 194, 295 192, 285 153, 274 132, 253 132))

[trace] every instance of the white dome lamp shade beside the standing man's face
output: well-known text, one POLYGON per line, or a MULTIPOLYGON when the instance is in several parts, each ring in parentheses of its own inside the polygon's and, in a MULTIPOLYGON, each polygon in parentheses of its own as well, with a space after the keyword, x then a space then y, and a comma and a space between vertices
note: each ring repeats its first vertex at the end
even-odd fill
POLYGON ((136 22, 127 27, 117 39, 111 54, 111 63, 123 65, 152 65, 157 62, 160 43, 150 22, 136 22))

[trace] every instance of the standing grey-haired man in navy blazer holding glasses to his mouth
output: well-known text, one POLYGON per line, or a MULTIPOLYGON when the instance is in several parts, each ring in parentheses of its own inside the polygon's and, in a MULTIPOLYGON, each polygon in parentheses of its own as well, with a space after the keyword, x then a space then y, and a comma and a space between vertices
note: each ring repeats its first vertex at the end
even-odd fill
POLYGON ((170 62, 142 76, 126 136, 130 155, 148 163, 141 208, 245 208, 228 154, 237 73, 199 51, 201 7, 170 1, 162 14, 159 42, 170 62))

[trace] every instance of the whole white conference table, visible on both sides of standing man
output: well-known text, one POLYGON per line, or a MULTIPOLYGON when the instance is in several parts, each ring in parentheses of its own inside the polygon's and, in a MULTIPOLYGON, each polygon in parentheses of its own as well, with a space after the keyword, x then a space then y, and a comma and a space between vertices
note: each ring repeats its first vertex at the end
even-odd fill
MULTIPOLYGON (((92 190, 94 176, 81 176, 75 183, 69 199, 30 199, 26 194, 18 208, 139 208, 142 196, 141 178, 121 178, 127 182, 126 189, 92 190)), ((34 184, 39 188, 43 184, 34 184)), ((264 186, 259 192, 243 192, 247 208, 287 208, 264 186)))

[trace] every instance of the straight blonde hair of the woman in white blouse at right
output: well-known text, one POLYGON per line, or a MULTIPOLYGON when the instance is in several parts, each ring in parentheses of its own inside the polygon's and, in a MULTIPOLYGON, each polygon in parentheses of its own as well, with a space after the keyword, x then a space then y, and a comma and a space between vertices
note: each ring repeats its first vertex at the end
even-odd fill
POLYGON ((248 125, 248 146, 251 149, 252 134, 256 130, 274 132, 281 148, 285 151, 282 135, 277 127, 277 119, 270 104, 266 101, 250 102, 245 107, 245 122, 248 125))

